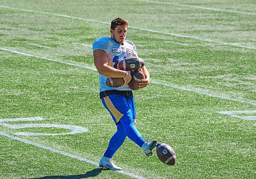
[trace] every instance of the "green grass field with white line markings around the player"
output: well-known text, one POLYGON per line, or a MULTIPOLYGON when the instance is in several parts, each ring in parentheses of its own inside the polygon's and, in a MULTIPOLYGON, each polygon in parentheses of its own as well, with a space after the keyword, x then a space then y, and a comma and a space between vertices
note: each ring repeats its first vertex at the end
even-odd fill
POLYGON ((256 178, 256 3, 0 0, 0 178, 256 178), (151 84, 134 92, 143 138, 98 161, 116 128, 92 55, 123 17, 151 84))

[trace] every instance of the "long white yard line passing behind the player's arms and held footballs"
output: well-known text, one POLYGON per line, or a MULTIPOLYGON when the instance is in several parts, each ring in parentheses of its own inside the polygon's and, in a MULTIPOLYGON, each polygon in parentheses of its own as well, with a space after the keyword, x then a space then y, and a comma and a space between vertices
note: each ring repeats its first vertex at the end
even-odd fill
MULTIPOLYGON (((49 60, 49 61, 55 61, 55 62, 59 62, 59 63, 63 63, 63 64, 78 66, 78 67, 84 68, 84 69, 97 71, 96 69, 91 68, 89 66, 83 66, 83 65, 79 65, 79 64, 75 64, 75 63, 68 63, 68 62, 55 60, 55 59, 51 59, 51 58, 40 57, 40 56, 37 56, 37 55, 30 55, 30 54, 26 54, 26 53, 18 52, 18 51, 15 51, 15 50, 6 49, 6 48, 0 48, 0 50, 8 51, 8 52, 16 53, 16 54, 21 54, 21 55, 26 55, 26 56, 30 56, 30 57, 40 58, 40 59, 44 59, 44 60, 49 60)), ((177 86, 177 85, 159 83, 159 82, 156 82, 156 81, 151 81, 151 83, 164 85, 164 86, 168 86, 168 87, 172 87, 172 88, 176 88, 176 89, 181 89, 183 91, 189 91, 189 92, 197 93, 197 94, 200 94, 200 95, 206 95, 206 96, 225 99, 225 100, 229 100, 229 101, 237 101, 237 102, 247 103, 247 104, 251 104, 251 105, 256 105, 256 103, 253 103, 253 102, 239 100, 239 99, 233 99, 233 98, 227 98, 227 97, 223 97, 223 96, 213 95, 213 94, 210 94, 210 93, 204 93, 204 92, 200 92, 200 91, 197 91, 197 90, 188 89, 188 88, 185 88, 185 87, 180 87, 180 86, 177 86)))

